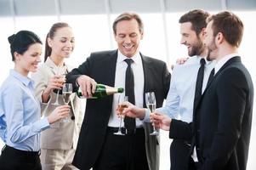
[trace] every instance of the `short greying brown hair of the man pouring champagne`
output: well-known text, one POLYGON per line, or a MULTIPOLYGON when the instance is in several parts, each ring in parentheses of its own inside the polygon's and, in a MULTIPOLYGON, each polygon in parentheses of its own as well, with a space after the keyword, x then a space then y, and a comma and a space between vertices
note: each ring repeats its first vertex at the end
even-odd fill
POLYGON ((143 25, 141 18, 139 17, 139 14, 136 14, 133 12, 126 12, 126 13, 120 14, 113 23, 112 28, 113 28, 115 35, 117 34, 117 23, 118 22, 120 22, 122 20, 133 20, 133 19, 137 20, 138 25, 139 25, 139 32, 142 33, 144 31, 144 25, 143 25))

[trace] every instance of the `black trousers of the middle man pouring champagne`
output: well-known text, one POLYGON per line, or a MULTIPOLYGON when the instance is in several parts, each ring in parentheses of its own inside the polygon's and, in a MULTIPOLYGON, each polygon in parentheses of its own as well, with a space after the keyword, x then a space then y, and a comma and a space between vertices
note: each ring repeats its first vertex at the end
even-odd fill
MULTIPOLYGON (((94 170, 149 170, 145 154, 145 130, 134 134, 113 134, 117 128, 108 127, 105 144, 94 170)), ((123 132, 123 131, 122 131, 123 132)))

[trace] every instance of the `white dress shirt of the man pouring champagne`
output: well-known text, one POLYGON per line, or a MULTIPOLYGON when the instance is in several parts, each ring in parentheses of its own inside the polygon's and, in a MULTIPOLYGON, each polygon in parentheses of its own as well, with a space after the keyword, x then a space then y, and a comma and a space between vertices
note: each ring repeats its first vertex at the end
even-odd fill
MULTIPOLYGON (((128 59, 128 57, 124 56, 118 50, 117 54, 117 66, 116 66, 116 76, 115 76, 115 87, 125 87, 125 73, 127 69, 127 63, 124 59, 128 59)), ((135 97, 135 105, 139 107, 143 107, 143 99, 144 99, 144 71, 142 65, 142 59, 139 53, 135 54, 132 58, 134 63, 131 65, 134 71, 134 97, 135 97)), ((115 94, 113 97, 112 104, 112 112, 109 119, 108 126, 109 127, 119 127, 120 118, 117 116, 117 104, 118 104, 118 94, 115 94)), ((138 118, 136 118, 136 127, 141 127, 143 122, 141 122, 138 118)), ((123 126, 123 122, 122 122, 123 126)))

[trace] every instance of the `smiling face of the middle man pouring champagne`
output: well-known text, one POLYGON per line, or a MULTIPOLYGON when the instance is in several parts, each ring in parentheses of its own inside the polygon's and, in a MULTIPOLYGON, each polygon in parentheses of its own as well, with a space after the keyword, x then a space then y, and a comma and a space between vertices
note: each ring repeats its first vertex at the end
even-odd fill
POLYGON ((133 57, 139 51, 139 42, 143 32, 139 31, 136 20, 122 20, 117 23, 115 39, 118 49, 126 57, 133 57))

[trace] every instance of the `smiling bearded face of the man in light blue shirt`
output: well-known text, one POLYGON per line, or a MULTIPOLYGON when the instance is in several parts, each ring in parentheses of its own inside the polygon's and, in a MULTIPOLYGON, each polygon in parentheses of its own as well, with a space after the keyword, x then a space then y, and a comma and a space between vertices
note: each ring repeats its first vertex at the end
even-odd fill
POLYGON ((196 31, 192 30, 191 22, 185 22, 180 24, 180 34, 180 43, 184 44, 188 48, 189 56, 202 54, 204 47, 200 38, 201 35, 197 36, 196 31))

